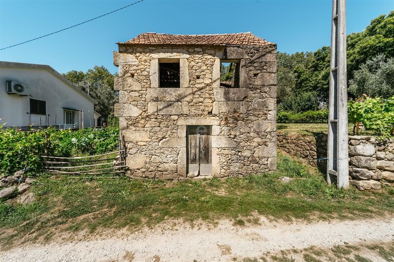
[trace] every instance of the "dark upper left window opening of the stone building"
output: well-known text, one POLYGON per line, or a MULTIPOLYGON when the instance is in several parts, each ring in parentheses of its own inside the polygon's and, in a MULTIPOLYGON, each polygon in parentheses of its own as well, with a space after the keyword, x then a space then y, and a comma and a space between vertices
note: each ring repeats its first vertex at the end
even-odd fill
POLYGON ((159 60, 159 87, 180 87, 180 64, 177 61, 159 60))

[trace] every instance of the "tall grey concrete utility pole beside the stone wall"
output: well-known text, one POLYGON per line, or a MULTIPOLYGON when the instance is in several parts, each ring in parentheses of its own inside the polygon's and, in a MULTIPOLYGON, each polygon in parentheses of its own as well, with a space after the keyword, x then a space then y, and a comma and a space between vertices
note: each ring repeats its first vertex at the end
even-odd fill
POLYGON ((346 0, 332 0, 327 182, 349 187, 346 0))

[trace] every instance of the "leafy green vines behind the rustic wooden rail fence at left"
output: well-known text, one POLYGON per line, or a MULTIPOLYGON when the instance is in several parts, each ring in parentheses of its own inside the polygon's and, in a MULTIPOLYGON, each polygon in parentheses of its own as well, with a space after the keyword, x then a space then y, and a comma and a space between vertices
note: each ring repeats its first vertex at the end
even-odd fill
POLYGON ((116 148, 118 139, 116 127, 24 132, 0 126, 0 175, 12 174, 25 167, 30 173, 42 170, 39 156, 45 154, 45 149, 50 156, 100 154, 116 148))

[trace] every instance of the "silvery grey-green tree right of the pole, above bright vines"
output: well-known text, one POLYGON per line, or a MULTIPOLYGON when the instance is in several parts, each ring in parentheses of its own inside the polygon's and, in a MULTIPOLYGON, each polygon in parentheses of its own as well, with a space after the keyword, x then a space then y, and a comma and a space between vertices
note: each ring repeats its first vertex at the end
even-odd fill
POLYGON ((394 94, 394 58, 381 54, 362 64, 350 80, 349 92, 355 97, 368 95, 388 98, 394 94))

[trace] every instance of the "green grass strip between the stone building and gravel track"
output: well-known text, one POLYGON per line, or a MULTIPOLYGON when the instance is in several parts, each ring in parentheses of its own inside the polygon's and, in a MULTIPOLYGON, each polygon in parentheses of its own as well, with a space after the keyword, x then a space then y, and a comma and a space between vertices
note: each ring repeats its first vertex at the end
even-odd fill
POLYGON ((13 230, 0 233, 3 245, 26 234, 50 239, 55 229, 137 229, 169 219, 192 224, 230 219, 234 226, 245 226, 258 223, 255 211, 270 219, 291 220, 370 217, 394 209, 386 189, 337 189, 315 170, 280 155, 278 170, 262 175, 199 181, 41 176, 31 190, 37 196, 31 205, 0 202, 0 232, 13 230), (294 180, 283 184, 278 177, 284 175, 294 180))

